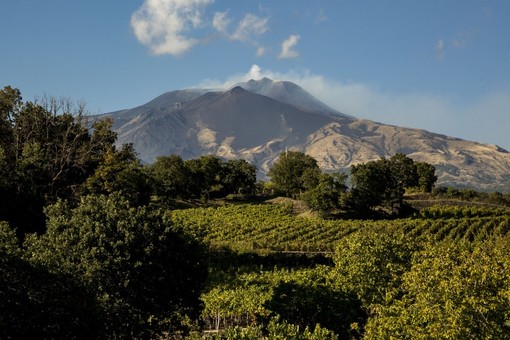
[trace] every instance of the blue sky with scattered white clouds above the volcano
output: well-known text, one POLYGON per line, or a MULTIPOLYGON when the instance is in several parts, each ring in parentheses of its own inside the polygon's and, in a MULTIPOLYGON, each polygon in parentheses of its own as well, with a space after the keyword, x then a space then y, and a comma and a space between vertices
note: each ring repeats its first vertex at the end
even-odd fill
POLYGON ((290 80, 341 112, 510 149, 510 1, 1 0, 0 86, 92 113, 290 80))

